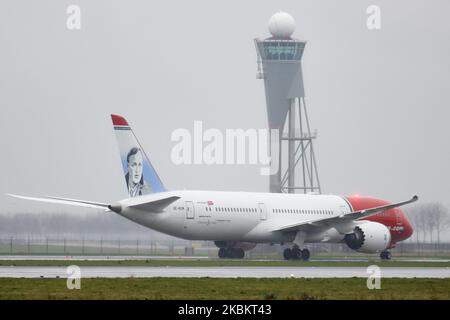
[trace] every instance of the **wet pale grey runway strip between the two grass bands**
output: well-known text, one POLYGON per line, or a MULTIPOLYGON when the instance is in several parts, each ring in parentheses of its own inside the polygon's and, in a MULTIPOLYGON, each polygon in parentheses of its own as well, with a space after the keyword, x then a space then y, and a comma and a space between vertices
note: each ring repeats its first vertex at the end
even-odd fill
MULTIPOLYGON (((81 278, 367 278, 362 267, 80 267, 81 278)), ((450 278, 450 268, 380 268, 382 278, 450 278)), ((0 267, 0 278, 67 278, 66 267, 0 267)))

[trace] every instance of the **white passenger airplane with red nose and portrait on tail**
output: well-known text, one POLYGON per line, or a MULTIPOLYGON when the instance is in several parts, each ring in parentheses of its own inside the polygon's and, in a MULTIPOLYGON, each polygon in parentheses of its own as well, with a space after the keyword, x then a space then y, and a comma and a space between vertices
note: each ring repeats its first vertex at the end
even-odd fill
POLYGON ((219 258, 242 259, 258 243, 288 244, 286 260, 310 259, 307 243, 345 243, 362 253, 380 253, 408 239, 413 228, 400 209, 418 200, 389 203, 364 196, 227 191, 169 191, 128 121, 111 115, 129 197, 100 203, 59 197, 10 196, 100 208, 135 223, 187 240, 213 241, 219 258), (292 244, 292 245, 291 245, 292 244))

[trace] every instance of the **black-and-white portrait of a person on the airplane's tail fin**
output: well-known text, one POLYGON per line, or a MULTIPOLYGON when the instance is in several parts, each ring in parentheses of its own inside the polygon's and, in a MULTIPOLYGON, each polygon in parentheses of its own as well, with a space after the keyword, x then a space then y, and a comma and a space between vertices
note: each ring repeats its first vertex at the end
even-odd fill
POLYGON ((144 180, 144 158, 141 149, 133 147, 128 152, 127 168, 125 181, 130 197, 152 193, 150 185, 144 180))

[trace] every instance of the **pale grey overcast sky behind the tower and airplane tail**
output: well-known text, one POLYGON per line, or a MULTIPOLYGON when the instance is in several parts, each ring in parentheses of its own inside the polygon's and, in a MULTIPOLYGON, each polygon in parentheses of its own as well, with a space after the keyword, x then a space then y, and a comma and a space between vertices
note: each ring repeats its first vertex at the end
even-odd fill
MULTIPOLYGON (((0 2, 0 193, 126 197, 109 115, 169 189, 267 191, 257 165, 174 165, 177 128, 266 128, 255 37, 296 20, 324 193, 450 205, 450 2, 0 2), (68 5, 81 30, 68 30, 68 5), (366 9, 381 8, 381 30, 366 9)), ((0 196, 1 210, 54 210, 0 196)))

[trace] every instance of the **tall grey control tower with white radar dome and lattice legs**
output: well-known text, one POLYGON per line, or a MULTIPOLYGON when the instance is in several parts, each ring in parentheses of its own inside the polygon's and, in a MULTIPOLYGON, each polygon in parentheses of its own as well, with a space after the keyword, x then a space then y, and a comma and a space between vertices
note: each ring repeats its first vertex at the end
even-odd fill
POLYGON ((292 38, 294 30, 292 16, 278 12, 269 20, 272 36, 255 39, 256 77, 264 80, 269 129, 278 130, 278 137, 271 135, 270 140, 272 167, 275 163, 278 167, 270 176, 270 192, 320 193, 313 149, 316 133, 311 134, 303 87, 306 42, 292 38))

